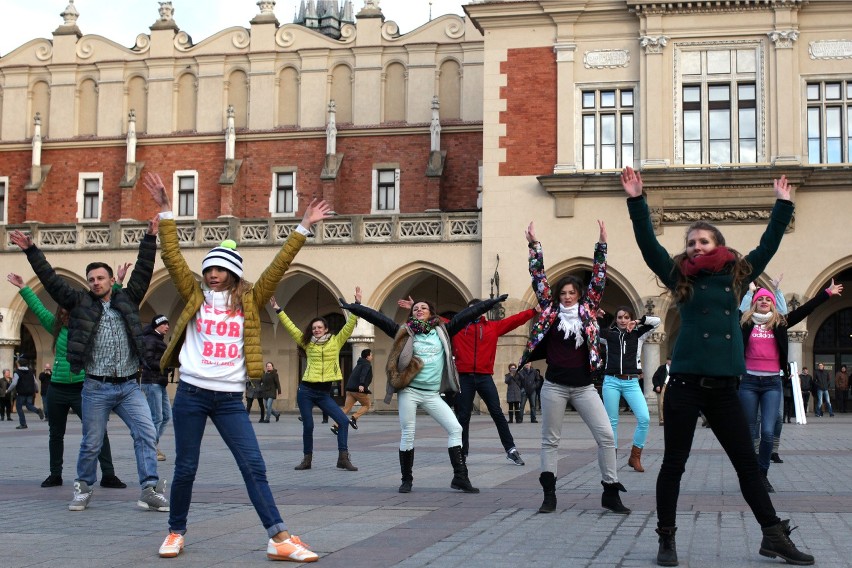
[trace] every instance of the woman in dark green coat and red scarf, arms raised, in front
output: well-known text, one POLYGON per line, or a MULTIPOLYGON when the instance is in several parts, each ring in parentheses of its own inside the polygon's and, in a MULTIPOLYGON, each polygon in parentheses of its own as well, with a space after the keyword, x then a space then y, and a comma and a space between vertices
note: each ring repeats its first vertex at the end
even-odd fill
POLYGON ((781 521, 760 476, 737 382, 745 373, 739 297, 769 264, 793 217, 787 178, 775 180, 778 198, 760 244, 742 256, 725 246, 715 226, 699 221, 686 230, 685 250, 672 258, 654 235, 642 176, 624 168, 621 184, 642 257, 674 297, 681 329, 675 342, 670 379, 663 402, 665 453, 657 477, 657 564, 677 566, 675 516, 680 480, 692 447, 699 411, 710 422, 737 472, 740 491, 763 531, 760 554, 790 564, 813 564, 790 540, 790 521, 781 521))

